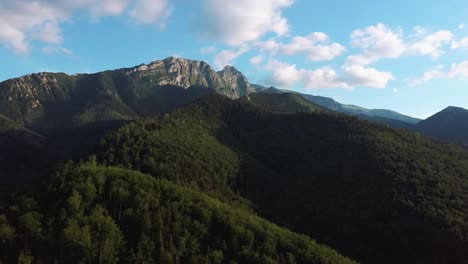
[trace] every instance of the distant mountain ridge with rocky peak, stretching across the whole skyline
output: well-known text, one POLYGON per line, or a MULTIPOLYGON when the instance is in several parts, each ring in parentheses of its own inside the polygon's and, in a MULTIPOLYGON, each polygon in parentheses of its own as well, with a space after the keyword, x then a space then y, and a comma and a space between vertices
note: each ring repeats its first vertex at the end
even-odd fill
POLYGON ((257 92, 293 93, 331 111, 446 142, 468 144, 464 115, 454 114, 458 121, 447 121, 449 125, 443 118, 453 114, 435 115, 437 118, 421 122, 391 110, 366 109, 328 97, 251 84, 235 67, 215 71, 204 61, 175 57, 93 74, 41 72, 6 80, 0 83, 0 115, 38 134, 62 133, 77 127, 95 130, 94 124, 98 124, 102 134, 116 124, 167 113, 209 93, 238 99, 257 92), (445 131, 448 127, 452 131, 445 131))

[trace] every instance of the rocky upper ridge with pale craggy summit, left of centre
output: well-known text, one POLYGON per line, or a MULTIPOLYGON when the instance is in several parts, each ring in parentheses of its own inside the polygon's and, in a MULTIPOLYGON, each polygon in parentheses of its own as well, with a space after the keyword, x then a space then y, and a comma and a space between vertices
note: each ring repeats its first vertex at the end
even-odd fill
POLYGON ((170 57, 95 74, 43 72, 4 81, 0 114, 49 129, 158 114, 211 91, 233 99, 255 92, 234 67, 216 72, 204 61, 170 57))

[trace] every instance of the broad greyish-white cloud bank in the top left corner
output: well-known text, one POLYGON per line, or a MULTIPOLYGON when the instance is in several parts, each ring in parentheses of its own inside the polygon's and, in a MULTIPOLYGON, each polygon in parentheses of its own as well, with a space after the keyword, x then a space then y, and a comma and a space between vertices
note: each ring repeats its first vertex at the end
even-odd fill
POLYGON ((60 24, 79 10, 89 12, 92 19, 128 14, 139 23, 162 25, 171 8, 167 0, 2 0, 0 43, 23 54, 34 40, 60 47, 60 24), (128 11, 130 6, 132 11, 128 11))

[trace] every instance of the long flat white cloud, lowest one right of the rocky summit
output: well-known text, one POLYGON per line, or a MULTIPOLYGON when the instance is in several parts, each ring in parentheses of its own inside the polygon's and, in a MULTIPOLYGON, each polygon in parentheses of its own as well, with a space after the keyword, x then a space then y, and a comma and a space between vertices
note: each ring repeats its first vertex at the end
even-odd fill
POLYGON ((266 70, 270 72, 269 82, 279 87, 301 85, 308 89, 356 87, 385 88, 393 75, 374 68, 360 65, 344 66, 340 73, 331 67, 319 69, 298 69, 294 64, 280 61, 270 61, 266 70))

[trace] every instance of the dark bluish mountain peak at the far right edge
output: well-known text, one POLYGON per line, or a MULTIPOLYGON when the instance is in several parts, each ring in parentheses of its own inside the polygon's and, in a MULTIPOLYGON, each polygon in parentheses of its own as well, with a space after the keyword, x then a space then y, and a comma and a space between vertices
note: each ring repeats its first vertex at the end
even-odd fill
POLYGON ((468 145, 468 110, 447 107, 435 115, 419 122, 416 131, 445 142, 468 145))

